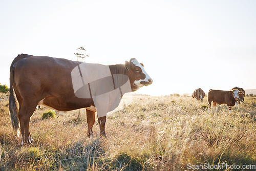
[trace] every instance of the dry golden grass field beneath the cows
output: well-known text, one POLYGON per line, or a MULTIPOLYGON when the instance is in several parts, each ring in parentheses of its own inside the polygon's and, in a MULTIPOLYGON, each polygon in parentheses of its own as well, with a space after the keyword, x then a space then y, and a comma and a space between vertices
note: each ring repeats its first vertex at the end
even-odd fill
POLYGON ((234 164, 253 170, 256 164, 255 97, 231 113, 226 105, 214 113, 208 112, 207 97, 200 103, 192 97, 126 95, 107 117, 107 138, 99 136, 97 120, 94 135, 86 137, 84 110, 41 119, 49 109, 37 109, 30 121, 35 142, 21 146, 8 95, 1 96, 1 170, 202 170, 196 166, 218 164, 230 167, 208 170, 236 170, 234 164))

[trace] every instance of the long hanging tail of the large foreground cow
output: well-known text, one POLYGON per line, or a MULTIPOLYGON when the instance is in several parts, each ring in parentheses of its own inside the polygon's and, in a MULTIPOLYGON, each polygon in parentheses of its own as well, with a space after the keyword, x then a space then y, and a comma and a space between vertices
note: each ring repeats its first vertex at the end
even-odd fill
POLYGON ((17 108, 17 100, 14 94, 13 86, 15 86, 14 81, 14 70, 15 70, 15 63, 23 58, 28 57, 28 55, 18 55, 11 64, 10 68, 10 96, 9 96, 9 110, 10 110, 10 118, 12 122, 13 131, 17 133, 18 137, 20 135, 19 131, 19 119, 18 119, 18 108, 17 108))

